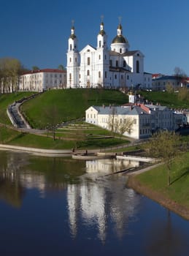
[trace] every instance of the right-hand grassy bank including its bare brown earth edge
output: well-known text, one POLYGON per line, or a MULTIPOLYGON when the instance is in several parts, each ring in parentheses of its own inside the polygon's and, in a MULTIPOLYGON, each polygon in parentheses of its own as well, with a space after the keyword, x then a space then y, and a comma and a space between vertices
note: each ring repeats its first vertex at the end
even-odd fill
POLYGON ((175 160, 171 170, 170 187, 167 187, 166 165, 131 177, 128 185, 189 219, 188 166, 189 152, 183 154, 181 159, 175 160))

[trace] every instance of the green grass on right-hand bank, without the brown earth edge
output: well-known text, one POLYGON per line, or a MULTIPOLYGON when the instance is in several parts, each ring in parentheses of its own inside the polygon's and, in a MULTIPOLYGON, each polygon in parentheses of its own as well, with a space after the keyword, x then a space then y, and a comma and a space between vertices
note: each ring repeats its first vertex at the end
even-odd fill
POLYGON ((135 177, 145 187, 168 196, 171 200, 189 207, 189 152, 174 162, 171 171, 171 186, 167 187, 167 169, 165 165, 153 168, 135 177))

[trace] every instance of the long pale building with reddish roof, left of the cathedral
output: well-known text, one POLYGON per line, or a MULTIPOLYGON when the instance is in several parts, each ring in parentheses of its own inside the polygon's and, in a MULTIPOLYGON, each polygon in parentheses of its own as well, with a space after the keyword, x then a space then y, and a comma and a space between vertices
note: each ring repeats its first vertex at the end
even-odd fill
POLYGON ((39 69, 20 75, 19 91, 66 88, 66 70, 39 69))

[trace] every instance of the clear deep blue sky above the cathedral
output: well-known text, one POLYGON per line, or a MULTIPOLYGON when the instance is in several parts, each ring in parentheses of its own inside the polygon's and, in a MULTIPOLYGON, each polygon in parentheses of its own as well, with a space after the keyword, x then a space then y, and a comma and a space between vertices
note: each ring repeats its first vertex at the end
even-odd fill
POLYGON ((33 66, 66 67, 74 20, 79 50, 96 47, 101 15, 108 45, 122 17, 130 50, 144 53, 146 72, 171 75, 180 67, 189 75, 188 0, 0 0, 0 58, 33 66))

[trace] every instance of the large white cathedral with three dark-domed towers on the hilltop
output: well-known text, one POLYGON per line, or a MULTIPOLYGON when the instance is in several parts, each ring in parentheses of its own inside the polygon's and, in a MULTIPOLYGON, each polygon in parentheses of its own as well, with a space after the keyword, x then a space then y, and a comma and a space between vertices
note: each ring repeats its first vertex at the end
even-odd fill
POLYGON ((151 89, 152 75, 144 72, 144 55, 140 50, 129 50, 121 24, 110 50, 103 22, 96 48, 86 45, 79 51, 74 26, 68 41, 67 88, 151 89))

